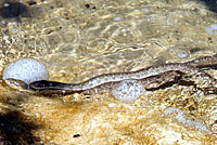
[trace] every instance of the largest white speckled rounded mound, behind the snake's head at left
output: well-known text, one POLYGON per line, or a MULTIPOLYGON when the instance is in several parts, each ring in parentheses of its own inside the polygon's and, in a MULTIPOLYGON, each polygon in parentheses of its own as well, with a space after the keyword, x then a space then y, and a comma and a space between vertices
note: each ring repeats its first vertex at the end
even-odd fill
POLYGON ((49 72, 41 62, 34 58, 22 58, 9 64, 3 70, 2 79, 8 78, 18 79, 29 84, 37 80, 48 80, 49 72))

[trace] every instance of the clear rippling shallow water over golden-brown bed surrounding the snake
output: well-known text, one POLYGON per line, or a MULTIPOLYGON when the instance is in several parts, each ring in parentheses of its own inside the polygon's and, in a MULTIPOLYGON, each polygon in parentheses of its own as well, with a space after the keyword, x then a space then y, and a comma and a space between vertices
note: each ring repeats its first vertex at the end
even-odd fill
MULTIPOLYGON (((26 0, 22 2, 27 3, 26 0)), ((29 6, 30 17, 21 17, 21 22, 0 19, 1 71, 10 62, 34 57, 47 65, 50 80, 81 82, 105 72, 132 71, 155 64, 187 62, 217 52, 215 49, 217 30, 213 27, 216 24, 216 15, 199 1, 37 0, 36 2, 29 6)), ((167 118, 155 121, 169 106, 188 110, 189 116, 195 120, 201 120, 203 117, 215 118, 216 95, 210 95, 206 100, 199 90, 194 91, 193 87, 173 85, 146 92, 131 104, 118 102, 107 94, 94 96, 76 94, 47 98, 48 96, 16 92, 5 85, 1 87, 1 108, 7 110, 2 111, 2 115, 11 111, 11 107, 17 111, 22 109, 24 120, 30 118, 30 121, 44 127, 33 129, 31 132, 44 144, 91 142, 106 144, 105 141, 117 144, 127 142, 148 144, 148 141, 161 144, 166 142, 162 140, 167 136, 164 133, 173 129, 177 134, 186 133, 186 137, 189 131, 194 134, 187 140, 171 135, 173 143, 176 142, 176 137, 180 144, 216 142, 215 135, 209 134, 210 136, 206 137, 203 132, 193 127, 184 127, 179 121, 167 118), (195 101, 196 98, 200 103, 195 101), (206 109, 208 106, 212 109, 206 109), (85 110, 86 107, 90 108, 92 114, 85 110), (59 111, 62 111, 62 115, 59 111), (122 113, 123 115, 119 115, 122 113), (101 116, 95 116, 98 114, 101 116), (85 120, 84 123, 79 122, 80 128, 76 123, 69 124, 71 118, 82 120, 80 116, 85 120), (95 124, 88 122, 86 116, 95 124), (118 116, 122 116, 119 120, 118 116), (142 126, 148 118, 153 119, 142 126), (119 123, 113 122, 114 119, 120 124, 124 121, 125 126, 118 127, 119 123), (104 128, 107 120, 108 127, 104 128), (56 124, 56 122, 62 123, 56 124), (89 130, 85 129, 86 126, 90 127, 89 130), (103 129, 97 128, 100 126, 103 126, 103 129), (157 128, 162 130, 156 131, 156 134, 150 133, 150 130, 157 128), (137 132, 144 133, 137 134, 137 132), (80 133, 81 140, 72 137, 73 133, 80 133), (85 135, 89 137, 85 140, 85 135)), ((204 122, 209 124, 212 121, 207 119, 204 122)))

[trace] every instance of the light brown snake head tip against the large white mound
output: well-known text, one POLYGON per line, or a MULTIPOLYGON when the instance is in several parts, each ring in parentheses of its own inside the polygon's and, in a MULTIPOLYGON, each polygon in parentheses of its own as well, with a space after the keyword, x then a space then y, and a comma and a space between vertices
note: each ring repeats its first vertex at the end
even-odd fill
POLYGON ((8 78, 4 81, 12 89, 20 90, 20 91, 28 90, 28 84, 25 83, 22 80, 17 80, 17 79, 13 79, 13 78, 8 78))

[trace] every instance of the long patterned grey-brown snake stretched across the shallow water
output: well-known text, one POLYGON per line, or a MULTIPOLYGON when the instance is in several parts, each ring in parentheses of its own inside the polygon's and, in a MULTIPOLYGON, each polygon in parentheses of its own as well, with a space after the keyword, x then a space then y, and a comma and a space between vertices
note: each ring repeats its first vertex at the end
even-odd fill
POLYGON ((154 65, 136 71, 103 74, 80 83, 39 80, 27 84, 22 80, 13 78, 5 79, 5 83, 13 89, 22 91, 90 93, 114 89, 123 80, 138 80, 143 84, 144 89, 149 90, 159 88, 169 81, 182 77, 188 81, 193 81, 200 88, 217 88, 217 80, 202 69, 202 67, 214 65, 217 65, 217 55, 201 56, 186 63, 154 65))

